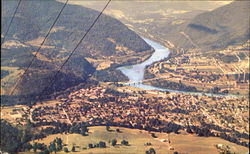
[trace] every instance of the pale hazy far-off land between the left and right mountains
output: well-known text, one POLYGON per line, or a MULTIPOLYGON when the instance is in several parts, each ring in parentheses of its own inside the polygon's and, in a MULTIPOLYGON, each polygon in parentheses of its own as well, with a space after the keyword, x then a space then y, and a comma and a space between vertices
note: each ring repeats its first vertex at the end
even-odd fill
MULTIPOLYGON (((58 0, 63 1, 63 0, 58 0)), ((138 34, 168 46, 178 37, 179 26, 196 15, 214 10, 232 1, 112 1, 105 14, 115 17, 138 34), (171 33, 173 32, 173 33, 171 33), (171 38, 172 39, 172 38, 171 38)), ((70 1, 101 10, 105 1, 70 1)))

